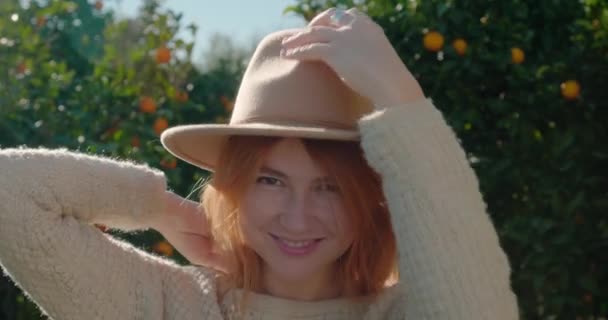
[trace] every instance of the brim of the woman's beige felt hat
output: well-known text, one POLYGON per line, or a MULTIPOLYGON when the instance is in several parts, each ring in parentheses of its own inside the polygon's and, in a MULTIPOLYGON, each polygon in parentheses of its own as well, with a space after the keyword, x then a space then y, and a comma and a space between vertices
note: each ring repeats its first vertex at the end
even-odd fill
POLYGON ((214 171, 219 153, 233 135, 297 137, 309 139, 359 141, 357 130, 294 127, 248 123, 238 125, 199 124, 180 125, 166 129, 160 140, 175 157, 201 169, 214 171))

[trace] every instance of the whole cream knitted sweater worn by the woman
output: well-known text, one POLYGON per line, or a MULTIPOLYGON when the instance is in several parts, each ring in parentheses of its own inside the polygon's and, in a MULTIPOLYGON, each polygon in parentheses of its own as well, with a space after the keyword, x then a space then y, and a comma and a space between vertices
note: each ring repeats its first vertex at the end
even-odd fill
MULTIPOLYGON (((478 180, 430 99, 359 120, 383 178, 399 284, 373 304, 253 294, 248 319, 517 319, 510 265, 478 180)), ((232 319, 213 271, 179 266, 100 232, 148 228, 162 214, 163 172, 67 149, 0 150, 0 264, 41 310, 71 319, 232 319)))

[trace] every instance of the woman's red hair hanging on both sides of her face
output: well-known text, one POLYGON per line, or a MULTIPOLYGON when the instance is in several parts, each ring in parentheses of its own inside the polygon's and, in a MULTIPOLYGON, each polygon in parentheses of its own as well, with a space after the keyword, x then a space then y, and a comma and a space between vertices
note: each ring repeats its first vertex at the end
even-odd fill
MULTIPOLYGON (((201 191, 202 206, 221 253, 234 263, 231 287, 260 291, 262 259, 244 241, 239 202, 258 168, 281 137, 231 136, 201 191), (247 165, 244 165, 247 164, 247 165)), ((311 158, 333 174, 356 235, 338 264, 342 296, 376 296, 397 280, 397 253, 381 177, 368 165, 359 142, 302 139, 311 158)))

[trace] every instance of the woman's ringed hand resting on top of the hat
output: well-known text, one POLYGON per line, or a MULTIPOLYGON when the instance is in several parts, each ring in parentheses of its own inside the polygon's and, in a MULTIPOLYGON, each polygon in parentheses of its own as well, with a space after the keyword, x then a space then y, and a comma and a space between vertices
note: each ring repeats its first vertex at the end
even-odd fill
POLYGON ((330 19, 335 10, 320 13, 305 30, 285 39, 281 56, 325 62, 376 108, 425 97, 382 27, 355 8, 346 10, 340 26, 335 26, 330 19))

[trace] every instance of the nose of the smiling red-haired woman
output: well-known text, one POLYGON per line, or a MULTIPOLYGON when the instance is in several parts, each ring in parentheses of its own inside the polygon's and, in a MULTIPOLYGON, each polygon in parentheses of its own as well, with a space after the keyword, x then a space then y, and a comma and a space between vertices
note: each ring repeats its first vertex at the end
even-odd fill
POLYGON ((305 233, 309 228, 310 210, 312 210, 312 206, 306 194, 293 192, 283 206, 279 215, 279 223, 289 233, 305 233))

